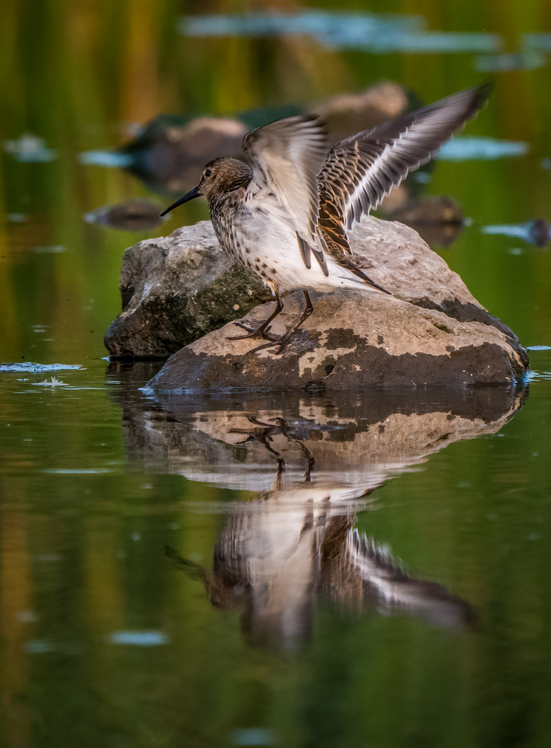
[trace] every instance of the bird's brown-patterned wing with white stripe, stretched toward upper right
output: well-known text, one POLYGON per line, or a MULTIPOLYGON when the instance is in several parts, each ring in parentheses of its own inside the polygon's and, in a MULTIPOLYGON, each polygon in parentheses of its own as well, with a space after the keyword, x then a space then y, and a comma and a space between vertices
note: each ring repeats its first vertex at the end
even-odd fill
POLYGON ((354 220, 375 209, 410 171, 426 164, 474 117, 492 88, 491 83, 468 88, 331 148, 318 175, 319 223, 335 234, 338 245, 348 250, 344 227, 351 229, 354 220))

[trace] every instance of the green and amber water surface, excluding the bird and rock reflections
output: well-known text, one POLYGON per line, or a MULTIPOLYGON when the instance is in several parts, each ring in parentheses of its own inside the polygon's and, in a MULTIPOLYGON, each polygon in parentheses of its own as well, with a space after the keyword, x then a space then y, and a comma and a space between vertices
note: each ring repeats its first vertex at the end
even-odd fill
POLYGON ((381 488, 378 511, 359 517, 410 568, 475 605, 480 631, 327 607, 304 652, 250 649, 238 613, 215 610, 163 557, 169 542, 210 565, 224 516, 195 503, 251 497, 129 457, 132 408, 156 407, 137 393, 153 370, 106 374, 102 338, 120 310, 124 249, 207 218, 207 208, 191 203, 150 232, 88 224, 84 214, 103 205, 148 197, 165 206, 173 196, 83 163, 82 153, 120 147, 163 113, 304 108, 382 79, 427 103, 495 77, 467 134, 523 141, 528 153, 438 162, 424 194, 449 194, 472 221, 443 256, 475 297, 524 345, 551 345, 549 247, 481 233, 551 219, 550 4, 374 0, 369 13, 391 31, 413 30, 369 43, 346 16, 368 17, 366 5, 351 1, 277 5, 297 25, 319 11, 330 28, 335 14, 342 37, 321 38, 312 16, 301 34, 189 30, 200 14, 271 8, 3 0, 0 359, 85 371, 59 374, 66 389, 33 390, 43 374, 0 374, 0 745, 218 747, 245 744, 236 731, 262 727, 272 732, 248 744, 543 748, 548 352, 531 354, 542 375, 499 435, 443 450, 381 488), (16 158, 10 142, 25 134, 43 139, 46 160, 16 158), (170 646, 113 646, 108 637, 126 629, 163 631, 170 646))

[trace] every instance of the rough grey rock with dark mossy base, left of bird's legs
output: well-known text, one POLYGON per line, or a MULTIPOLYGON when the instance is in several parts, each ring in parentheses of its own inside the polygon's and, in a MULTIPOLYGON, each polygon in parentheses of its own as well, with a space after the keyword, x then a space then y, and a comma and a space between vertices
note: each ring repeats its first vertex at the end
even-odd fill
POLYGON ((114 358, 166 358, 271 298, 257 275, 230 263, 210 221, 127 249, 120 295, 105 333, 114 358))

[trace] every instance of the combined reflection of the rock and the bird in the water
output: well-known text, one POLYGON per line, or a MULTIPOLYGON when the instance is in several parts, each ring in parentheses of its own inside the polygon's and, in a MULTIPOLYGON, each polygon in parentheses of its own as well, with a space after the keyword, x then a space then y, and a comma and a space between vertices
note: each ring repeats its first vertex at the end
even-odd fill
POLYGON ((376 488, 448 444, 499 431, 522 401, 502 387, 225 402, 167 396, 159 410, 127 408, 126 444, 150 469, 257 492, 215 507, 227 518, 212 568, 179 549, 166 554, 215 607, 241 611, 250 644, 293 648, 312 637, 324 601, 438 626, 475 622, 467 601, 410 576, 389 549, 357 533, 356 513, 373 506, 376 488))

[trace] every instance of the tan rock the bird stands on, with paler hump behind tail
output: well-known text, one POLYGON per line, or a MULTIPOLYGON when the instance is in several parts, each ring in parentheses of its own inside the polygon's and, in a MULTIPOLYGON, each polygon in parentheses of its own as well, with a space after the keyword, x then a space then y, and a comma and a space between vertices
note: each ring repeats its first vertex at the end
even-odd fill
MULTIPOLYGON (((313 294, 312 316, 279 355, 276 348, 255 352, 258 340, 229 340, 238 334, 230 323, 173 355, 150 387, 503 384, 526 374, 528 357, 514 333, 413 229, 369 217, 354 230, 352 249, 357 264, 393 295, 313 294)), ((301 292, 286 298, 271 332, 282 334, 301 304, 301 292)), ((241 322, 258 325, 272 308, 256 307, 241 322)))

